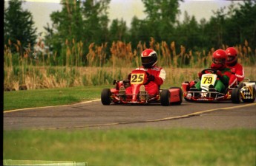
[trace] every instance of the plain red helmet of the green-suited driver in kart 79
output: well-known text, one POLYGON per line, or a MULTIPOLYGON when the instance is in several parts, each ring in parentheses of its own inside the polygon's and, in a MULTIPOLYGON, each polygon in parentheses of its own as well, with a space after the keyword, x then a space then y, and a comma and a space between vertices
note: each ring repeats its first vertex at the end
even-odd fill
POLYGON ((213 69, 224 69, 226 67, 226 52, 223 49, 217 49, 212 54, 211 68, 213 69))

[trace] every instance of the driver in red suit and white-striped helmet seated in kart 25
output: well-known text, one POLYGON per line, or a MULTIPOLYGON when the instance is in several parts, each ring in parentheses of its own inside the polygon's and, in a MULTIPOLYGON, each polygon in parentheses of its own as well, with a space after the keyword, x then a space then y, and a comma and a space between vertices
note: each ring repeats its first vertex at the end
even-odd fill
MULTIPOLYGON (((144 70, 148 75, 149 83, 140 86, 140 92, 147 91, 151 94, 150 97, 154 97, 159 93, 160 86, 165 80, 165 70, 156 66, 157 64, 157 52, 153 49, 145 49, 141 54, 142 66, 136 70, 144 70)), ((128 80, 131 80, 131 73, 128 75, 128 80)), ((119 91, 122 91, 124 87, 120 87, 119 91)), ((131 86, 125 89, 126 94, 131 94, 131 86)), ((140 96, 143 99, 143 95, 140 96)), ((145 98, 143 99, 145 100, 145 98)))

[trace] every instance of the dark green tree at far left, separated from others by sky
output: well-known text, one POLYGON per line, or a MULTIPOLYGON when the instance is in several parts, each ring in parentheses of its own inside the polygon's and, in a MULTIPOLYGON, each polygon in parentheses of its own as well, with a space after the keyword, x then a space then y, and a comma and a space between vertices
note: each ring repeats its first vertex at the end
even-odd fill
MULTIPOLYGON (((20 41, 20 47, 33 46, 36 43, 36 30, 32 14, 27 10, 22 10, 20 0, 10 0, 7 9, 4 9, 4 44, 17 44, 20 41)), ((16 50, 11 46, 12 50, 16 50)), ((19 50, 22 52, 22 50, 19 50)))

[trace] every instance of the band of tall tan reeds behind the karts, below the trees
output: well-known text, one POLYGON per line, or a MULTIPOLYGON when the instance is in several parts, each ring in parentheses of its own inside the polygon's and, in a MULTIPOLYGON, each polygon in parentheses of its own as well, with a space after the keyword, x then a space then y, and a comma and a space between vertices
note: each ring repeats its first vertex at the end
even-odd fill
MULTIPOLYGON (((85 44, 75 39, 65 41, 62 56, 57 52, 45 51, 42 41, 34 48, 22 50, 17 41, 16 52, 10 51, 10 45, 4 46, 4 90, 49 89, 56 87, 110 85, 114 79, 125 80, 132 69, 140 66, 140 53, 151 48, 158 54, 158 66, 167 72, 166 86, 179 86, 185 80, 193 80, 197 72, 211 64, 210 50, 196 51, 176 46, 175 42, 157 43, 154 38, 145 43, 139 42, 136 48, 131 43, 114 41, 110 48, 107 43, 88 46, 85 55, 85 44), (178 49, 177 49, 178 48, 178 49), (180 52, 177 52, 180 50, 180 52), (108 54, 109 52, 109 54, 108 54), (63 56, 65 55, 65 56, 63 56)), ((223 45, 222 49, 229 46, 223 45)), ((245 67, 246 77, 256 80, 255 55, 247 41, 234 46, 238 51, 239 62, 245 67)))

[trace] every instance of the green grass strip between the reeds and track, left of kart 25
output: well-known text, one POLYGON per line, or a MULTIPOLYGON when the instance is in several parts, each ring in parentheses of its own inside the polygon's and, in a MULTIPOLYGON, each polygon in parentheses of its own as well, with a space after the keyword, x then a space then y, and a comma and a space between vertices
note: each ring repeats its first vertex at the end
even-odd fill
POLYGON ((112 86, 83 86, 63 89, 4 91, 4 111, 18 108, 59 106, 99 99, 103 88, 112 86))

